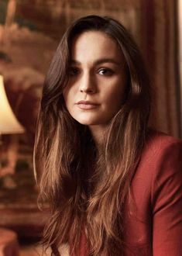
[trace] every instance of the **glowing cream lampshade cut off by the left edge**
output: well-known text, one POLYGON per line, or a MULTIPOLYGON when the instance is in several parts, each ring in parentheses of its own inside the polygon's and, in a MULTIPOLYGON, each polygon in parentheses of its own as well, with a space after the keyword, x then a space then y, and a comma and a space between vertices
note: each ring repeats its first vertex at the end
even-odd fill
POLYGON ((25 130, 15 118, 5 94, 3 77, 0 74, 0 134, 23 133, 25 130))

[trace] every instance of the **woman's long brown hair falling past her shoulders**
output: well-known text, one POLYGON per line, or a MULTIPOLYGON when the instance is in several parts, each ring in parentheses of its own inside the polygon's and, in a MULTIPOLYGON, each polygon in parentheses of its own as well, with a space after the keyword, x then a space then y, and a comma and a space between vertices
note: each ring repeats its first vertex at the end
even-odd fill
POLYGON ((86 16, 74 22, 60 41, 46 75, 36 131, 39 203, 48 203, 50 209, 43 233, 47 247, 69 243, 70 253, 79 255, 84 234, 90 255, 122 255, 123 207, 146 141, 149 106, 148 76, 129 32, 109 17, 86 16), (88 127, 70 116, 63 98, 71 43, 88 30, 111 36, 129 70, 125 102, 108 125, 105 150, 99 156, 88 127))

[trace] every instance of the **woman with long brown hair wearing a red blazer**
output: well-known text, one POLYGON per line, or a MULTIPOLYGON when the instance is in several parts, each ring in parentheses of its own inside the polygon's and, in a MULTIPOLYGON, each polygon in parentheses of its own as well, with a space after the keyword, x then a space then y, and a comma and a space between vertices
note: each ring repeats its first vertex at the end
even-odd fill
POLYGON ((182 255, 180 140, 147 129, 149 81, 115 19, 67 29, 43 87, 35 144, 43 244, 59 255, 182 255))

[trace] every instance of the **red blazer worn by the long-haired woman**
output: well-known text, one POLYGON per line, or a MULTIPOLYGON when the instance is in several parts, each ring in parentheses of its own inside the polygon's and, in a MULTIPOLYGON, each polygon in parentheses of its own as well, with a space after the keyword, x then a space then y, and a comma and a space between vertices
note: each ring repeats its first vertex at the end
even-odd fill
MULTIPOLYGON (((149 133, 126 202, 125 256, 182 256, 182 141, 149 133)), ((79 256, 86 256, 85 238, 79 256)), ((109 255, 108 255, 109 256, 109 255)))

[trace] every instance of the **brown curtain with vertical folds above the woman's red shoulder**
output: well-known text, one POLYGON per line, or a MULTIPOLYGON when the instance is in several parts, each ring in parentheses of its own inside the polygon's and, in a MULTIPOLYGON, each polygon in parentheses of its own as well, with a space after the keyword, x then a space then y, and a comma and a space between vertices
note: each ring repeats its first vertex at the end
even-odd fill
POLYGON ((151 126, 180 137, 177 2, 141 1, 141 48, 151 77, 151 126))

